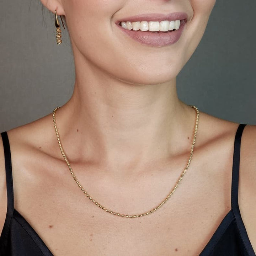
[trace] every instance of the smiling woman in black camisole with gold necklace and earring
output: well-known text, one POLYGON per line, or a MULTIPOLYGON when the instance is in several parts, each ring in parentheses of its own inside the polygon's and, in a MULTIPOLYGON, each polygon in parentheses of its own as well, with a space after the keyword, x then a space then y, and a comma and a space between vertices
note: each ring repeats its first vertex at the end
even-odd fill
POLYGON ((42 3, 65 17, 75 88, 2 134, 0 255, 255 256, 256 128, 176 93, 215 1, 42 3))

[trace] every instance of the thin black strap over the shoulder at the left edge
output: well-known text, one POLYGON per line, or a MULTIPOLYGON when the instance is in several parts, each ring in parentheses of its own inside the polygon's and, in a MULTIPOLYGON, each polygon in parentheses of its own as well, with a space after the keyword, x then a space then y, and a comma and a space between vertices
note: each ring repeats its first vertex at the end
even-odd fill
POLYGON ((7 212, 2 234, 0 236, 0 251, 6 236, 8 234, 12 215, 14 212, 14 190, 12 182, 12 166, 11 166, 11 150, 7 132, 1 133, 2 142, 4 145, 4 157, 5 157, 5 172, 6 172, 6 190, 7 190, 7 212))

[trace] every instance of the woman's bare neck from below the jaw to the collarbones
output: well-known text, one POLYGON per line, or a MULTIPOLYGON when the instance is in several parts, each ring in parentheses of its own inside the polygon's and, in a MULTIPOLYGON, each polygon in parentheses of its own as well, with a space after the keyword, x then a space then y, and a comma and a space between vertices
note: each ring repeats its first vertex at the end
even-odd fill
POLYGON ((178 100, 176 79, 135 85, 86 70, 76 70, 74 94, 56 113, 69 155, 120 167, 190 151, 196 113, 178 100))

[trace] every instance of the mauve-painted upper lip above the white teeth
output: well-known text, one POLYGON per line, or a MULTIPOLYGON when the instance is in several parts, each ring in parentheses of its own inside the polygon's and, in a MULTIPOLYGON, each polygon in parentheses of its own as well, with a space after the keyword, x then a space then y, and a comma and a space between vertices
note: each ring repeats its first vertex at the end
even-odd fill
POLYGON ((185 12, 173 12, 170 14, 140 14, 130 17, 124 17, 121 20, 117 20, 116 24, 119 24, 121 21, 173 21, 173 20, 187 20, 188 15, 185 12))

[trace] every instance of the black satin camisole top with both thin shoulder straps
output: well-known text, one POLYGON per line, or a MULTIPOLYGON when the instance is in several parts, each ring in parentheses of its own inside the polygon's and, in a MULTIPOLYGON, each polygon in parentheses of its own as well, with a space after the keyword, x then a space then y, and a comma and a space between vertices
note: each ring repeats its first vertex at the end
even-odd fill
MULTIPOLYGON (((231 210, 199 256, 256 256, 238 205, 240 146, 244 127, 245 124, 240 124, 235 136, 231 210)), ((0 256, 53 256, 36 231, 14 209, 10 145, 7 133, 1 135, 5 154, 7 213, 0 236, 0 256)))

